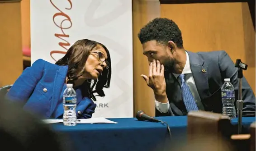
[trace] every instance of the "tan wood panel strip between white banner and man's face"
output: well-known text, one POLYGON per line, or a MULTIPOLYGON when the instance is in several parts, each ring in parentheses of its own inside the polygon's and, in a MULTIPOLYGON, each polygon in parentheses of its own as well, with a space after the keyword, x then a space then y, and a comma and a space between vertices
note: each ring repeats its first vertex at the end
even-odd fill
POLYGON ((155 99, 153 91, 147 86, 141 74, 148 75, 147 57, 142 54, 142 44, 137 34, 153 18, 160 17, 158 0, 133 0, 133 96, 134 116, 143 110, 155 116, 155 99))

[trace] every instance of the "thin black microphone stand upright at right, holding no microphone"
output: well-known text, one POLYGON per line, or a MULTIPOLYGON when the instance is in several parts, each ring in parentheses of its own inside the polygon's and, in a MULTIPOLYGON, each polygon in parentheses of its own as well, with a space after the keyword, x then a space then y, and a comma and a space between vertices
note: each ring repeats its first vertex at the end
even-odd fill
POLYGON ((238 117, 238 134, 242 133, 242 109, 243 109, 243 100, 242 100, 242 78, 243 70, 247 70, 248 65, 242 63, 241 59, 236 60, 235 67, 238 68, 237 78, 238 78, 238 100, 237 100, 237 117, 238 117))

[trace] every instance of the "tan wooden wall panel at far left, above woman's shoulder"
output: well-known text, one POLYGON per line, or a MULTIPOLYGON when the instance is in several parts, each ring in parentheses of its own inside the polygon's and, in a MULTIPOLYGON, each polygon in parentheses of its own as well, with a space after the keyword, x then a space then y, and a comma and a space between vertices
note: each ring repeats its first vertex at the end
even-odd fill
POLYGON ((0 87, 23 71, 20 2, 0 2, 0 87))

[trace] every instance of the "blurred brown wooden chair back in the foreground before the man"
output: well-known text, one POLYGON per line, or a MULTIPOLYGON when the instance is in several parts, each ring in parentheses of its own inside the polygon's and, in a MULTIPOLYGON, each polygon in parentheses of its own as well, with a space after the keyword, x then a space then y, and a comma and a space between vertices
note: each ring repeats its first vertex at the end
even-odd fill
POLYGON ((196 151, 233 151, 228 136, 231 135, 228 116, 206 111, 188 113, 188 149, 196 151))

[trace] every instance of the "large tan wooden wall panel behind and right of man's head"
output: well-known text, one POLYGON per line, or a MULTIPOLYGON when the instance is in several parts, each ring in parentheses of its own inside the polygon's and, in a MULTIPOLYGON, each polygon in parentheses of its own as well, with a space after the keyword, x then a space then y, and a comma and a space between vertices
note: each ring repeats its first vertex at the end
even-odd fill
POLYGON ((233 62, 242 59, 255 93, 255 31, 247 3, 162 4, 161 17, 178 24, 186 50, 226 50, 233 62))

